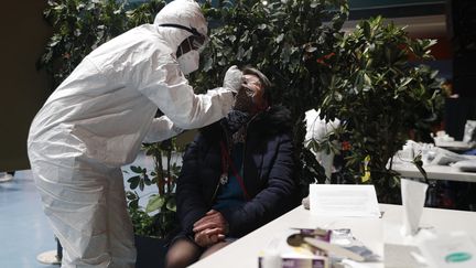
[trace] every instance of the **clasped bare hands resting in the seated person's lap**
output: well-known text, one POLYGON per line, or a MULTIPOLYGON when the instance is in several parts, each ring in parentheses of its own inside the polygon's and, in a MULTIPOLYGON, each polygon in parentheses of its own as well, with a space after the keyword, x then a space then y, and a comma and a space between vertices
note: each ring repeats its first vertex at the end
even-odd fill
POLYGON ((228 233, 228 223, 221 213, 212 210, 195 222, 193 232, 195 233, 195 243, 202 247, 208 247, 225 239, 225 235, 228 233))

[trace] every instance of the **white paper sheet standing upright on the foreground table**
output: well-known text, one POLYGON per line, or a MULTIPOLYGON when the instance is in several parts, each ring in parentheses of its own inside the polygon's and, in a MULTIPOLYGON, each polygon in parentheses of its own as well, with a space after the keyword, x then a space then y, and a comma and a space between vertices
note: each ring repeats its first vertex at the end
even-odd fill
POLYGON ((311 184, 311 213, 323 216, 380 217, 374 185, 311 184))

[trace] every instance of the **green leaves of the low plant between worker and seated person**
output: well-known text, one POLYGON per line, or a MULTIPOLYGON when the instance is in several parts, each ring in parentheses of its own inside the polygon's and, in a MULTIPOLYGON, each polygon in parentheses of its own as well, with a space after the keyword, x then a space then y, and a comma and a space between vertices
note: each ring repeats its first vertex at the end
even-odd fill
POLYGON ((127 199, 132 224, 138 235, 167 237, 176 227, 175 187, 181 170, 176 159, 181 156, 173 154, 180 149, 172 139, 143 144, 143 149, 153 159, 153 170, 131 167, 134 175, 128 180, 131 191, 127 192, 127 199), (143 193, 148 186, 154 186, 156 191, 149 191, 141 196, 137 190, 143 193), (148 203, 142 207, 139 201, 144 197, 148 203))

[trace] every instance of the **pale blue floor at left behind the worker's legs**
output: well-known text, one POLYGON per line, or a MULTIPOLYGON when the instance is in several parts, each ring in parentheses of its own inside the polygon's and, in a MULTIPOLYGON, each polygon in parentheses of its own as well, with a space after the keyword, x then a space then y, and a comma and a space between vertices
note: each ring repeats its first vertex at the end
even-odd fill
MULTIPOLYGON (((139 154, 133 164, 152 167, 152 161, 139 154)), ((31 171, 17 171, 13 180, 0 183, 0 268, 57 268, 36 260, 39 254, 53 249, 56 242, 31 171)))

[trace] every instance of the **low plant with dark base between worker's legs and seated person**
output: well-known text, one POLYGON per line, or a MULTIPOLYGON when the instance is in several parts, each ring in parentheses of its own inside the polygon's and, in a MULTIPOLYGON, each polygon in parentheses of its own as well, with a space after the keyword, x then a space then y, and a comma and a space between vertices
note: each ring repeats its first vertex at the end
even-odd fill
MULTIPOLYGON (((136 234, 137 267, 163 267, 166 244, 178 226, 175 212, 175 186, 181 153, 174 139, 143 144, 152 159, 152 169, 131 165, 127 191, 129 215, 136 234), (139 192, 138 192, 139 191, 139 192), (141 205, 141 201, 145 205, 141 205)), ((126 173, 129 173, 127 170, 126 173)))

